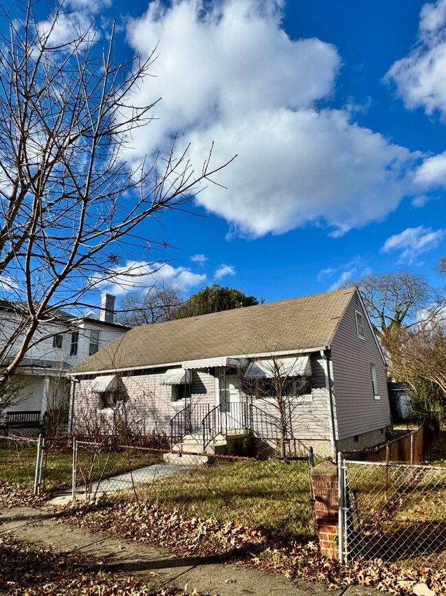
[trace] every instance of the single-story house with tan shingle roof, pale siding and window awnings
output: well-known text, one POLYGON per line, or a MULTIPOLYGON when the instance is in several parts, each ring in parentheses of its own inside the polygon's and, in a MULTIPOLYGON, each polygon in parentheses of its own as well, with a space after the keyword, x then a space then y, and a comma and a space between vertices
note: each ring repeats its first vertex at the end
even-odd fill
POLYGON ((135 327, 71 378, 73 432, 113 432, 124 410, 174 443, 250 432, 330 454, 391 428, 384 355, 355 287, 135 327))

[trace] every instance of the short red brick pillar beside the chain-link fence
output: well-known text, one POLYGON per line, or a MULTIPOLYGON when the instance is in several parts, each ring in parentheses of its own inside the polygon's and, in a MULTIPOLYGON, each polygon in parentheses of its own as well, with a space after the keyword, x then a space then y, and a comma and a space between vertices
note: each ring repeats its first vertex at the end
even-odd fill
POLYGON ((338 558, 338 470, 331 461, 312 468, 319 546, 322 555, 338 558))

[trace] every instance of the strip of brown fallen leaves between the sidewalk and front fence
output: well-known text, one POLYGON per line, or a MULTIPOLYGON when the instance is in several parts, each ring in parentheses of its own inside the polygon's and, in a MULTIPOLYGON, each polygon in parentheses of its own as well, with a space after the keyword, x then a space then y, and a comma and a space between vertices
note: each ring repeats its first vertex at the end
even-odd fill
POLYGON ((323 557, 316 542, 286 544, 236 522, 190 518, 154 505, 138 507, 106 500, 67 507, 62 515, 93 531, 111 531, 122 538, 164 547, 174 556, 215 556, 333 588, 359 584, 396 595, 414 596, 415 591, 419 596, 446 595, 446 570, 408 569, 380 559, 360 558, 343 565, 323 557))

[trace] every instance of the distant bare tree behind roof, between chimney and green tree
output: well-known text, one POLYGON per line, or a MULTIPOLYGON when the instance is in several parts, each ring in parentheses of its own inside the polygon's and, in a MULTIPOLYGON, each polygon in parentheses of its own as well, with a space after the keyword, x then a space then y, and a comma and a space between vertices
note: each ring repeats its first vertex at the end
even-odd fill
POLYGON ((182 304, 174 287, 151 288, 143 295, 130 293, 121 300, 118 320, 128 327, 169 321, 182 304))

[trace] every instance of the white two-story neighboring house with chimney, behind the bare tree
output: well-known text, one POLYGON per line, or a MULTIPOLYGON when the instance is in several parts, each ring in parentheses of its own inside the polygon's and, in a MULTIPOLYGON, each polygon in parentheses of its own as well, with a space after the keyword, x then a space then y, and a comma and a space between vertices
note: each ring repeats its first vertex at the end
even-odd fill
MULTIPOLYGON (((5 419, 11 412, 45 412, 54 408, 67 410, 70 381, 68 371, 87 357, 106 347, 128 331, 115 322, 115 296, 102 295, 99 316, 89 313, 80 318, 61 313, 58 320, 40 325, 38 335, 44 338, 26 353, 18 374, 22 386, 19 398, 0 412, 5 419)), ((4 338, 19 322, 17 309, 8 302, 0 302, 0 327, 4 338)))

